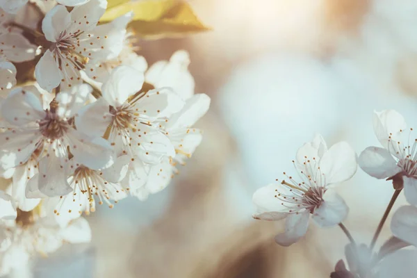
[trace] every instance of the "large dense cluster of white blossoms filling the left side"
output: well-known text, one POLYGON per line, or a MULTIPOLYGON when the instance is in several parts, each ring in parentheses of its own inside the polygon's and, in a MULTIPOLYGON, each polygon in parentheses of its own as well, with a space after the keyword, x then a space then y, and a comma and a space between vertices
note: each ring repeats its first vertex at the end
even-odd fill
POLYGON ((10 183, 0 275, 63 241, 90 241, 83 213, 163 190, 202 141, 193 126, 210 99, 194 94, 188 53, 148 68, 126 30, 132 13, 101 24, 106 7, 0 0, 0 174, 10 183))

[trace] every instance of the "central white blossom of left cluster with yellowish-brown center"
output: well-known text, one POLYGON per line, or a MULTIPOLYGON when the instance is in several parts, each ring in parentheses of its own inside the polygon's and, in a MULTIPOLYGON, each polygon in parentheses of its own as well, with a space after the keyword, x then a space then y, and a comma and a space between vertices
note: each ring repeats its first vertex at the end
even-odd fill
POLYGON ((102 136, 108 130, 117 155, 128 154, 156 165, 175 154, 161 124, 181 110, 183 101, 168 88, 142 93, 142 83, 142 72, 117 67, 101 87, 103 97, 85 106, 75 122, 79 130, 89 134, 102 136))

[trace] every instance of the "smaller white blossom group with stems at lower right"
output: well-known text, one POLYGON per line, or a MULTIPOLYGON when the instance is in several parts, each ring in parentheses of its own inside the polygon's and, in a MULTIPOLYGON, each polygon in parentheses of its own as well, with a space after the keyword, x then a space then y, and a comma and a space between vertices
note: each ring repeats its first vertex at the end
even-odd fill
POLYGON ((331 277, 391 277, 387 273, 409 276, 407 265, 398 263, 404 256, 416 257, 417 247, 417 138, 400 113, 387 110, 373 116, 375 135, 382 147, 368 147, 359 156, 347 142, 329 149, 316 135, 298 149, 293 161, 295 175, 284 172, 284 179, 259 188, 253 195, 258 220, 286 219, 285 231, 275 237, 279 245, 289 246, 302 238, 311 218, 319 227, 340 226, 350 240, 345 255, 349 270, 341 260, 331 277), (372 177, 393 183, 393 198, 367 245, 358 245, 342 223, 349 212, 343 197, 334 187, 351 179, 357 165, 372 177), (391 237, 379 252, 373 252, 376 240, 395 199, 404 189, 409 205, 401 206, 391 220, 391 237), (407 248, 405 248, 407 247, 407 248), (411 250, 409 249, 411 248, 411 250), (411 253, 410 253, 411 252, 411 253))

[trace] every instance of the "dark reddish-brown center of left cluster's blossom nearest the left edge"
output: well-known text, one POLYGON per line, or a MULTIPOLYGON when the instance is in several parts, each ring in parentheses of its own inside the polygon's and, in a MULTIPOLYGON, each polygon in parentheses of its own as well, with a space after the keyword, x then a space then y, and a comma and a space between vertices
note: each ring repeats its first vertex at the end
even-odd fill
POLYGON ((61 120, 56 113, 47 111, 47 116, 39 122, 42 135, 51 140, 62 138, 70 128, 66 120, 61 120))

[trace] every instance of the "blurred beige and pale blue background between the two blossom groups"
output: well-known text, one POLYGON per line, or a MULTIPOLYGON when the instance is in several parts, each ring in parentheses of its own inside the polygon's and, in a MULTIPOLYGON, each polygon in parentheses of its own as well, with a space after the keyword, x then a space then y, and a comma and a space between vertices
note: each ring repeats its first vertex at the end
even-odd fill
MULTIPOLYGON (((163 192, 90 215, 95 277, 329 277, 347 243, 338 227, 311 225, 299 243, 279 247, 284 223, 253 220, 252 194, 291 171, 316 132, 359 154, 378 145, 374 110, 417 124, 417 1, 190 4, 213 31, 140 41, 139 53, 149 65, 190 53, 196 92, 212 99, 196 124, 204 140, 163 192)), ((391 184, 359 169, 338 189, 350 206, 345 225, 368 244, 391 184)))

